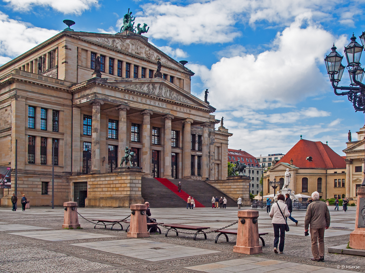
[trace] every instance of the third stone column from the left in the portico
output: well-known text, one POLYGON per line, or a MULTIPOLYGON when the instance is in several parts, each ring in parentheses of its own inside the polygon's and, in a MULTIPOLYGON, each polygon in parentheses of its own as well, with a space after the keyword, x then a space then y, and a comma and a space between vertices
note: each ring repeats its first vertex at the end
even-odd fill
POLYGON ((147 175, 151 175, 151 131, 150 131, 150 115, 153 114, 150 110, 141 112, 143 115, 142 128, 142 171, 147 175))

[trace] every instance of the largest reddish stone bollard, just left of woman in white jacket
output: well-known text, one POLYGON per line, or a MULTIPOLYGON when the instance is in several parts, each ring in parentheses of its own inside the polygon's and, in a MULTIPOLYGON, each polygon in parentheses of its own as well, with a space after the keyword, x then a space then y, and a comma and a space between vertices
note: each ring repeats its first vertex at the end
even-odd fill
POLYGON ((258 241, 258 211, 240 210, 238 211, 237 242, 233 247, 233 252, 244 254, 262 253, 262 246, 258 241))

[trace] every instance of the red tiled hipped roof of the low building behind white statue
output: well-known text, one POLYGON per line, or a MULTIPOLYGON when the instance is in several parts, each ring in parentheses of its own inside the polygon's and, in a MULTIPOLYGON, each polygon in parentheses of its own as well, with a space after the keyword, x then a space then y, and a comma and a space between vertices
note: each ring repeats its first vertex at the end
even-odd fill
POLYGON ((293 159, 293 165, 299 168, 346 168, 344 158, 335 153, 330 146, 323 144, 320 141, 300 139, 300 141, 298 141, 279 162, 290 163, 290 159, 293 159), (312 162, 308 161, 307 157, 312 157, 312 162))

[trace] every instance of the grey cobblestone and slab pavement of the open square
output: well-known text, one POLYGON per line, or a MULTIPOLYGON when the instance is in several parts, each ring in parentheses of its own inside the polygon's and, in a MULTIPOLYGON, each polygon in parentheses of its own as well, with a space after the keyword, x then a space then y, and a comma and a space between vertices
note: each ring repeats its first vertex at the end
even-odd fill
MULTIPOLYGON (((263 253, 249 256, 232 251, 236 241, 233 235, 228 235, 229 242, 221 236, 222 243, 215 244, 216 233, 207 234, 207 240, 193 241, 192 235, 182 233, 179 237, 166 238, 162 229, 162 234, 151 234, 142 240, 128 238, 124 230, 94 229, 92 223, 81 217, 81 230, 62 229, 63 208, 14 212, 1 207, 0 273, 365 272, 364 257, 327 253, 328 247, 349 241, 355 210, 356 207, 349 207, 346 213, 330 210, 331 227, 324 239, 326 260, 313 262, 310 237, 304 236, 305 211, 293 211, 292 216, 299 224, 295 226, 289 221, 291 230, 285 236, 284 254, 274 254, 271 220, 266 210, 259 209, 259 231, 269 234, 264 236, 263 253)), ((130 210, 79 208, 78 212, 87 219, 123 219, 130 210)), ((236 208, 151 208, 151 213, 158 222, 204 225, 212 229, 238 219, 236 208)), ((123 228, 127 225, 123 224, 123 228)), ((237 229, 237 225, 230 229, 237 229)))

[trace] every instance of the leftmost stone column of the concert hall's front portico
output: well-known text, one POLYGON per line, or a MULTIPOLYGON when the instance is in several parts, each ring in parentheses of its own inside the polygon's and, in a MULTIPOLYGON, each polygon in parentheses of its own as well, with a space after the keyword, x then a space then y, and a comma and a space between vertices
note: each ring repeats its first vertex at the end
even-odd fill
POLYGON ((91 173, 100 173, 100 105, 101 100, 93 100, 91 122, 91 173))

